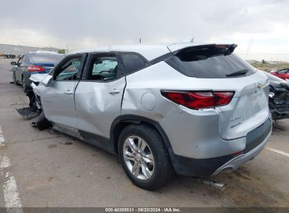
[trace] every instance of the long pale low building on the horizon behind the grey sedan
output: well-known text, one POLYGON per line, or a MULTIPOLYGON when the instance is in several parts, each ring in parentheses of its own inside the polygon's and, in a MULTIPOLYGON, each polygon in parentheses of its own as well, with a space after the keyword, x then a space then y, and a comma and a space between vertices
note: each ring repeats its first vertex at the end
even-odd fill
POLYGON ((15 55, 16 57, 20 57, 21 55, 29 52, 35 52, 37 50, 51 50, 58 52, 58 48, 37 48, 30 46, 20 46, 20 45, 11 45, 11 44, 1 44, 0 43, 0 55, 15 55))

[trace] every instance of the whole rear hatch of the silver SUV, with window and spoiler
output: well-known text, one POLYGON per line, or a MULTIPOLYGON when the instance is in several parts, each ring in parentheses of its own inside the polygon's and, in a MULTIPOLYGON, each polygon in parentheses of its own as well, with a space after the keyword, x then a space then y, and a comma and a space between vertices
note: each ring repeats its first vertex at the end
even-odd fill
POLYGON ((269 80, 233 54, 236 45, 204 45, 175 50, 165 60, 182 74, 194 90, 234 92, 231 102, 215 107, 219 132, 224 139, 244 137, 269 118, 269 80), (201 78, 201 79, 200 79, 201 78))

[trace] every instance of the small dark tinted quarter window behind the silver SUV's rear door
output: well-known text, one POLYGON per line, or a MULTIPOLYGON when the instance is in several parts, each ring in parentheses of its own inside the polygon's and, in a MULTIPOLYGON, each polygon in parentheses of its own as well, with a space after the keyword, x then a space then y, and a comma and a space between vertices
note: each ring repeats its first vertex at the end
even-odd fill
POLYGON ((139 69, 148 67, 150 64, 143 57, 131 54, 131 53, 122 53, 122 61, 124 62, 124 68, 127 71, 127 74, 130 74, 139 69))

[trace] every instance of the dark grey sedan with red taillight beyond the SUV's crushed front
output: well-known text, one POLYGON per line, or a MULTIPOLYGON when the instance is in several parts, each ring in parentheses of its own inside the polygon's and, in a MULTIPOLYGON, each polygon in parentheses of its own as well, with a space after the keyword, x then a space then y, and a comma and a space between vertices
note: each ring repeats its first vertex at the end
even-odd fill
POLYGON ((47 74, 63 59, 65 55, 50 51, 37 51, 24 54, 18 62, 11 62, 15 66, 12 78, 15 85, 23 85, 23 91, 31 89, 29 80, 33 74, 47 74))

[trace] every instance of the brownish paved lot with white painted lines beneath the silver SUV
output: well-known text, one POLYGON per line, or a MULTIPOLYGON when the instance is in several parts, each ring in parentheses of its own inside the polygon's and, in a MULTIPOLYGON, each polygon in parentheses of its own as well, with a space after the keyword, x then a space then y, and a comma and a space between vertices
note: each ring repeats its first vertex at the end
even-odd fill
POLYGON ((32 128, 15 111, 28 99, 10 83, 10 69, 10 60, 0 60, 0 207, 289 207, 289 119, 274 125, 257 158, 214 177, 226 182, 224 191, 181 176, 145 191, 131 184, 116 156, 32 128))

